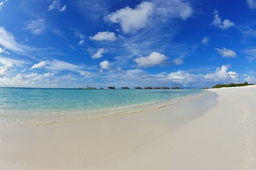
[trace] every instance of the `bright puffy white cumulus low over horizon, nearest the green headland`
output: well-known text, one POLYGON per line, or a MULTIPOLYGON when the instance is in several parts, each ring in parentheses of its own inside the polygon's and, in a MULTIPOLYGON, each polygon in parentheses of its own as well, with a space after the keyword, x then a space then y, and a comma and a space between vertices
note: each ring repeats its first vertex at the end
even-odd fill
POLYGON ((237 82, 238 74, 236 72, 228 72, 230 65, 223 65, 218 67, 214 73, 209 73, 204 76, 204 79, 211 79, 214 81, 228 81, 237 82))

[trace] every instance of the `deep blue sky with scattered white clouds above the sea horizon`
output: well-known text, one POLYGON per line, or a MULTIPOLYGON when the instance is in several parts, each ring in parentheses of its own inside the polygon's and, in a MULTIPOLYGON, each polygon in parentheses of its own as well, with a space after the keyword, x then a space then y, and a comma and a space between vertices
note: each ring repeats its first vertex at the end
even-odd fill
POLYGON ((0 0, 0 86, 256 84, 256 0, 0 0))

